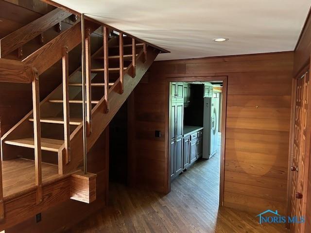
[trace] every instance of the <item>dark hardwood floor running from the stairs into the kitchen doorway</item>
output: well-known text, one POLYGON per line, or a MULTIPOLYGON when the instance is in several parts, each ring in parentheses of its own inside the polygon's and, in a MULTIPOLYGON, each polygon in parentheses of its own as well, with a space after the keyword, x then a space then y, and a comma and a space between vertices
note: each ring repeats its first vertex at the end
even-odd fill
POLYGON ((254 214, 218 208, 219 155, 199 160, 172 183, 168 195, 110 184, 109 206, 72 233, 283 233, 284 225, 259 225, 254 214))

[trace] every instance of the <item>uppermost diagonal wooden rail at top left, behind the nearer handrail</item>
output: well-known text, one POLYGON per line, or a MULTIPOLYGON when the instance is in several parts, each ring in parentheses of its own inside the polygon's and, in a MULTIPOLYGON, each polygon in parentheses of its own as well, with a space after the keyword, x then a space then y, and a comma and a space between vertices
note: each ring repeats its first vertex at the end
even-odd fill
POLYGON ((48 14, 37 18, 35 21, 21 27, 17 31, 8 34, 0 39, 0 57, 4 57, 10 52, 20 48, 28 41, 41 33, 47 31, 52 26, 69 17, 71 13, 56 8, 48 14))

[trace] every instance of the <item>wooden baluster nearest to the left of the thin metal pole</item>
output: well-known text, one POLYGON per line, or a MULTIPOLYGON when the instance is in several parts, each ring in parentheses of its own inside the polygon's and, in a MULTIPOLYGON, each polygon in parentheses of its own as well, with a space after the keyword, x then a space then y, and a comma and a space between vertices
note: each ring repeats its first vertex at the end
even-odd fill
POLYGON ((64 114, 64 144, 66 164, 70 162, 70 125, 69 125, 69 61, 68 47, 64 47, 62 57, 63 68, 63 114, 64 114))

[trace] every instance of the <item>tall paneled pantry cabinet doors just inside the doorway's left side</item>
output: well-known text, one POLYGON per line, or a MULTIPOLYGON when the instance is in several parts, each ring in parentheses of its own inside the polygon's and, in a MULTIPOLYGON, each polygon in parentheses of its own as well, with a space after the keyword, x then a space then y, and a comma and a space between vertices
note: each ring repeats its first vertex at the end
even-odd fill
POLYGON ((184 101, 171 103, 171 178, 183 170, 184 101))

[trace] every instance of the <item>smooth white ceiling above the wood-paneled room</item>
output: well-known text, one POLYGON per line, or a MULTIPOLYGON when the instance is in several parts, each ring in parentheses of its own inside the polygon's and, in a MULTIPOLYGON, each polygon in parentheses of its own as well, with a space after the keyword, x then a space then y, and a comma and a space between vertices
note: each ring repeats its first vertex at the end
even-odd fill
POLYGON ((311 0, 54 0, 170 50, 157 60, 294 50, 311 0), (213 38, 227 37, 226 42, 213 38))

